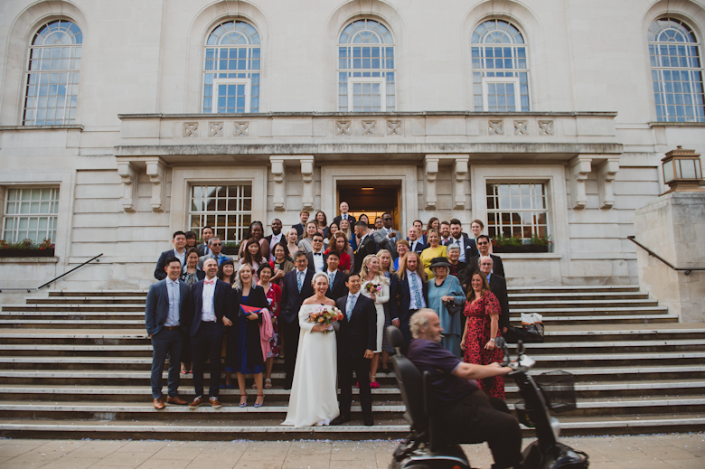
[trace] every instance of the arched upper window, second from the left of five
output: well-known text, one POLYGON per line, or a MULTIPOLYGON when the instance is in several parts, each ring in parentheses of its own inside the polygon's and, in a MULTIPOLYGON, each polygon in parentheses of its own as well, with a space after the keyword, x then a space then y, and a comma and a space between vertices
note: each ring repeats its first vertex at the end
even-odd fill
POLYGON ((203 62, 203 112, 259 112, 259 33, 228 21, 208 36, 203 62))

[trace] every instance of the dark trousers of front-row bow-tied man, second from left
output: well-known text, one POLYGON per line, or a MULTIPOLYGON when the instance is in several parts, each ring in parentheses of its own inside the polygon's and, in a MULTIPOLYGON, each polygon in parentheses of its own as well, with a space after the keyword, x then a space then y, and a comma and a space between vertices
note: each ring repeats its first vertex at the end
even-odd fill
POLYGON ((211 361, 211 389, 209 398, 217 398, 221 389, 222 325, 201 323, 198 332, 191 338, 193 360, 193 388, 196 397, 203 395, 203 370, 205 361, 211 361))

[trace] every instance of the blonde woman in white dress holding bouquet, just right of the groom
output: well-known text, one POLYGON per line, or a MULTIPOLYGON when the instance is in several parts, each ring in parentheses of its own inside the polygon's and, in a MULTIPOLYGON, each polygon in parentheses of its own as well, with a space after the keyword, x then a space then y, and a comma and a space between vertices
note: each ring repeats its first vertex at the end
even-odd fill
POLYGON ((370 298, 377 310, 377 348, 370 361, 370 387, 378 389, 380 383, 377 382, 377 367, 380 364, 381 342, 384 334, 384 304, 390 301, 390 279, 381 273, 380 258, 374 254, 362 259, 360 278, 362 279, 362 295, 370 298))

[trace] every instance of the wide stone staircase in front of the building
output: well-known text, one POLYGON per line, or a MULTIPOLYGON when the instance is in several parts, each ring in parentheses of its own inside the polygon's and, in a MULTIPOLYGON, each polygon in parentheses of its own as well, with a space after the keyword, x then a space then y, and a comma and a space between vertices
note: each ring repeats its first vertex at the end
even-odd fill
MULTIPOLYGON (((53 291, 3 305, 0 436, 375 439, 408 433, 394 376, 383 373, 381 389, 372 390, 374 427, 362 426, 356 401, 348 425, 281 427, 289 391, 282 389, 280 361, 263 408, 252 407, 254 396, 240 408, 239 391, 222 389, 220 410, 155 410, 145 297, 144 291, 53 291)), ((637 286, 512 287, 510 305, 515 325, 522 312, 543 314, 546 340, 527 346, 537 361, 532 372, 575 375, 578 408, 559 416, 564 435, 705 429, 705 324, 679 324, 637 286)), ((506 390, 512 407, 519 399, 512 380, 506 390)), ((179 392, 193 399, 192 375, 182 375, 179 392)))

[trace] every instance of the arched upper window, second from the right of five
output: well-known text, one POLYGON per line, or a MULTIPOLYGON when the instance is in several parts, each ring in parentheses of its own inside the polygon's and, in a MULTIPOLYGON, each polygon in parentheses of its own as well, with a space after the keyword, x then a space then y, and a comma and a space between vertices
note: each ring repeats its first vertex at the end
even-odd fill
POLYGON ((519 29, 487 20, 478 24, 470 42, 475 111, 528 111, 529 65, 519 29))

